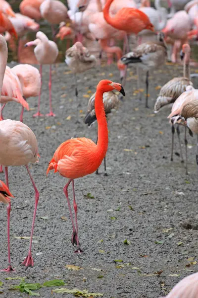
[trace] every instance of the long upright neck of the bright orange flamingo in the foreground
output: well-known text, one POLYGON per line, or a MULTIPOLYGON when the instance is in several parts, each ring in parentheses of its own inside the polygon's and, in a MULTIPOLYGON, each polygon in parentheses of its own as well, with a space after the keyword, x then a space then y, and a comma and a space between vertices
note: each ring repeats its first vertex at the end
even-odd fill
POLYGON ((95 96, 95 112, 98 122, 98 142, 96 149, 98 153, 104 157, 108 148, 108 128, 104 112, 103 93, 104 91, 102 91, 100 87, 97 87, 95 96))

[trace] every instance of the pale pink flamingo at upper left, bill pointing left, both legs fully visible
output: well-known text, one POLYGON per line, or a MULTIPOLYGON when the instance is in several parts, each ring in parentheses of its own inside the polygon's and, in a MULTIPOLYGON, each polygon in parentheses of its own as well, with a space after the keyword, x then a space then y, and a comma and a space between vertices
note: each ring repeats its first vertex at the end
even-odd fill
MULTIPOLYGON (((55 116, 51 106, 51 64, 53 64, 58 56, 58 47, 41 31, 37 32, 36 39, 25 44, 25 47, 36 46, 34 49, 35 56, 40 64, 41 86, 42 86, 42 65, 49 64, 49 114, 46 116, 55 116)), ((38 112, 33 117, 43 116, 40 113, 41 89, 38 99, 38 112)))

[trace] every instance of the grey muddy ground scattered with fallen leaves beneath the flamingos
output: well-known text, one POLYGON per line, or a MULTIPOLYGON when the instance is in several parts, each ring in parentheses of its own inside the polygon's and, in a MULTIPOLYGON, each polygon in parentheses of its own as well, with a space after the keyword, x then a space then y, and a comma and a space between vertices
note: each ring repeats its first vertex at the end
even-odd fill
MULTIPOLYGON (((74 137, 96 141, 97 124, 89 129, 83 123, 88 95, 91 94, 89 90, 95 92, 97 83, 103 78, 119 82, 119 74, 116 65, 111 65, 79 75, 79 98, 76 100, 74 79, 66 65, 59 64, 53 70, 52 102, 56 117, 34 119, 37 98, 28 100, 31 109, 24 115, 24 123, 37 136, 41 155, 38 164, 30 165, 40 191, 32 249, 35 266, 27 271, 19 266, 27 255, 29 240, 15 238, 30 235, 34 190, 25 167, 10 167, 10 191, 15 196, 10 222, 11 259, 16 273, 0 273, 3 282, 0 297, 28 296, 9 291, 20 280, 5 280, 8 276, 26 277, 27 283, 40 284, 62 279, 66 285, 56 288, 86 289, 103 293, 105 298, 167 295, 178 281, 198 271, 196 136, 188 135, 189 175, 186 176, 184 163, 177 154, 176 138, 176 154, 174 161, 170 161, 171 129, 166 118, 170 108, 153 114, 158 86, 182 75, 182 67, 169 64, 150 74, 149 109, 145 108, 145 91, 142 101, 135 92, 135 69, 128 70, 126 97, 108 121, 108 176, 103 175, 102 164, 99 175, 92 174, 75 181, 79 236, 84 251, 80 256, 74 254, 71 244, 72 226, 63 194, 66 180, 52 171, 46 177, 46 170, 55 149, 63 141, 74 137), (88 193, 91 195, 87 196, 88 193), (93 198, 88 198, 90 196, 93 198), (66 265, 82 269, 69 270, 66 265)), ((49 112, 48 72, 48 67, 44 68, 43 113, 49 112)), ((145 74, 141 79, 142 88, 145 88, 145 74)), ((198 87, 196 80, 194 83, 198 87)), ((19 119, 19 114, 19 105, 13 103, 7 104, 3 111, 4 118, 14 120, 19 119)), ((181 128, 184 154, 183 138, 184 129, 181 128)), ((4 174, 0 174, 0 179, 4 181, 4 174)), ((71 189, 69 196, 72 199, 71 189)), ((0 268, 6 266, 6 207, 1 204, 0 268)), ((39 293, 42 298, 73 297, 71 294, 53 294, 52 289, 55 287, 44 287, 34 293, 39 293)))

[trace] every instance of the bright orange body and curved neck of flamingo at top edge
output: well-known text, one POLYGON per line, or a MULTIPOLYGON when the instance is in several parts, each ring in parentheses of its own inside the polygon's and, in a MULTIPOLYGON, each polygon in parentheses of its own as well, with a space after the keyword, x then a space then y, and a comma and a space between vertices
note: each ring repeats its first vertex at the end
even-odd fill
POLYGON ((107 0, 104 9, 104 19, 112 27, 118 30, 124 30, 127 34, 138 34, 144 29, 154 31, 148 16, 137 8, 124 7, 120 9, 115 16, 109 16, 109 8, 113 0, 107 0))

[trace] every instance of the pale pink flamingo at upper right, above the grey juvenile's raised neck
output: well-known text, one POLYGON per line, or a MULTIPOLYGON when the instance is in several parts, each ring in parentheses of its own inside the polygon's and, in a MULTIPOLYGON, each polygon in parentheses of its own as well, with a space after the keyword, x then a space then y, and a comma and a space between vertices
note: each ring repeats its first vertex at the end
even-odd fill
POLYGON ((171 59, 175 63, 177 61, 177 52, 182 45, 188 43, 188 32, 191 29, 191 21, 185 10, 178 11, 167 21, 166 27, 162 30, 166 36, 175 40, 171 59))

